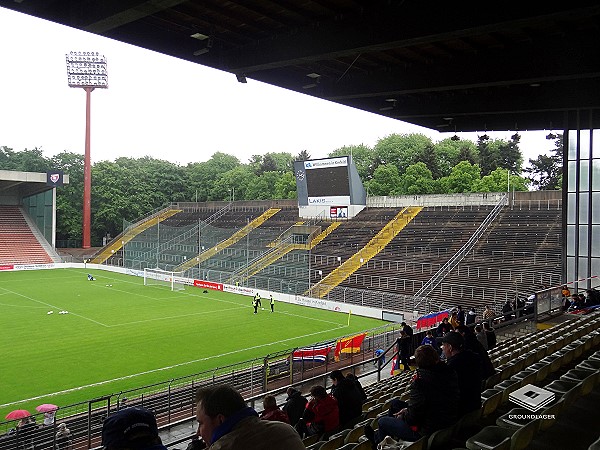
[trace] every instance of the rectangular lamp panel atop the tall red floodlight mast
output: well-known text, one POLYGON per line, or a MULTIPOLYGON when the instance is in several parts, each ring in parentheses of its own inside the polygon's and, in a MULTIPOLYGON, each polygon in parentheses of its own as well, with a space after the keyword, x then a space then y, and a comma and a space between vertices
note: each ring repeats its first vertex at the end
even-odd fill
POLYGON ((69 52, 66 60, 70 87, 108 88, 104 55, 98 52, 69 52))

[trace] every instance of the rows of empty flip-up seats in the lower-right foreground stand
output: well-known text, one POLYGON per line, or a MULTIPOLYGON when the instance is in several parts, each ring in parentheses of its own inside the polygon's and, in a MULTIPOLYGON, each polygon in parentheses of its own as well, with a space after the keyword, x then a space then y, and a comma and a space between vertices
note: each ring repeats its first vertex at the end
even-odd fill
MULTIPOLYGON (((600 384, 600 351, 596 351, 560 378, 549 381, 561 368, 572 365, 582 355, 600 347, 600 314, 579 317, 543 331, 530 333, 499 343, 489 352, 496 365, 496 375, 486 382, 480 409, 466 414, 451 427, 438 430, 410 444, 410 450, 498 449, 519 450, 529 445, 536 433, 544 431, 555 420, 529 420, 520 423, 509 415, 523 416, 519 409, 502 412, 510 393, 527 384, 543 385, 555 393, 558 401, 539 414, 560 417, 580 396, 587 395, 600 384), (509 357, 511 361, 505 361, 509 357), (501 414, 498 415, 498 412, 501 414), (496 417, 497 416, 497 417, 496 417), (494 424, 494 425, 492 425, 494 424), (483 427, 483 428, 482 428, 483 427), (481 431, 479 431, 481 430, 481 431)), ((311 436, 304 440, 311 450, 371 449, 364 435, 366 425, 377 428, 377 419, 387 414, 393 399, 406 400, 411 373, 401 373, 365 387, 368 400, 363 415, 352 428, 342 430, 328 439, 311 436)), ((531 414, 531 413, 529 413, 531 414)), ((598 443, 600 445, 600 442, 598 443)), ((591 449, 591 447, 590 447, 591 449)))

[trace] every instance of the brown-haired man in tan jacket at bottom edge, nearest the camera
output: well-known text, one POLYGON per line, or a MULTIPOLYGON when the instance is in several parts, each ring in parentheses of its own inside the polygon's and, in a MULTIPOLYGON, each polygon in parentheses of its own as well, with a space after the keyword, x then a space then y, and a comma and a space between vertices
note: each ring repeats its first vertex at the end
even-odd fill
POLYGON ((200 388, 195 395, 197 434, 211 450, 305 450, 288 424, 260 420, 238 391, 226 385, 200 388))

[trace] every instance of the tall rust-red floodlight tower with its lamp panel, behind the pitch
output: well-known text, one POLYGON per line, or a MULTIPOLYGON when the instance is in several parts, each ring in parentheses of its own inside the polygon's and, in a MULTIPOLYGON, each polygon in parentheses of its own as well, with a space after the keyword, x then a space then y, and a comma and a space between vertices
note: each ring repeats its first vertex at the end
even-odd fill
POLYGON ((90 248, 92 208, 92 168, 90 163, 90 103, 95 88, 108 88, 106 58, 98 52, 69 52, 67 76, 69 87, 85 91, 85 157, 83 162, 83 239, 82 247, 90 248))

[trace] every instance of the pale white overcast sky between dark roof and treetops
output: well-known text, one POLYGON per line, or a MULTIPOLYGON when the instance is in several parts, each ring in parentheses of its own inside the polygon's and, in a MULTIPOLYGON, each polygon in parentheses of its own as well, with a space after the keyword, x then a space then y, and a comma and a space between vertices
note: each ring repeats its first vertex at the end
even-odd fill
MULTIPOLYGON (((91 96, 92 162, 148 155, 187 164, 217 151, 242 163, 267 152, 322 158, 392 133, 419 132, 434 142, 449 136, 250 78, 238 83, 229 73, 4 8, 0 42, 0 146, 16 151, 83 154, 85 92, 67 85, 70 51, 99 52, 108 63, 109 88, 91 96)), ((525 162, 552 148, 547 131, 520 133, 525 162)))

